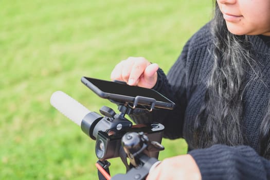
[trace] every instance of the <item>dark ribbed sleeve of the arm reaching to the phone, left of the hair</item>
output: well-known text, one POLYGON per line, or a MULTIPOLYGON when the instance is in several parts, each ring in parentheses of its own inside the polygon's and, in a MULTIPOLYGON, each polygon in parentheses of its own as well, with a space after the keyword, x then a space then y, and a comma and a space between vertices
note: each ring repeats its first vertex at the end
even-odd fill
POLYGON ((199 111, 197 105, 202 102, 199 97, 196 99, 193 97, 193 101, 190 101, 190 95, 195 88, 199 89, 200 93, 197 95, 200 97, 205 93, 205 85, 201 83, 201 87, 197 86, 197 84, 199 84, 198 80, 205 81, 205 76, 207 76, 211 66, 209 61, 204 61, 209 59, 208 45, 211 39, 209 24, 204 26, 199 32, 194 34, 185 44, 181 55, 170 68, 168 76, 165 75, 162 69, 157 71, 158 79, 153 89, 173 101, 175 103, 174 109, 159 109, 154 110, 152 113, 136 110, 134 114, 130 115, 136 123, 155 121, 163 124, 165 126, 165 138, 176 139, 184 137, 185 118, 194 119, 193 116, 196 116, 194 112, 199 111), (187 107, 190 107, 192 104, 194 106, 189 108, 187 112, 187 107))

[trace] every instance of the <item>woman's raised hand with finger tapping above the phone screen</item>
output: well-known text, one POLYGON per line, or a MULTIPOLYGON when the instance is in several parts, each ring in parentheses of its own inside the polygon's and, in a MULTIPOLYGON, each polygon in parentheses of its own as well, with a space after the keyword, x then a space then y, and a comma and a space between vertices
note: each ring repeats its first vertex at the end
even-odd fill
POLYGON ((145 58, 130 57, 115 66, 111 79, 125 81, 129 85, 152 88, 157 81, 157 69, 157 64, 151 64, 145 58))

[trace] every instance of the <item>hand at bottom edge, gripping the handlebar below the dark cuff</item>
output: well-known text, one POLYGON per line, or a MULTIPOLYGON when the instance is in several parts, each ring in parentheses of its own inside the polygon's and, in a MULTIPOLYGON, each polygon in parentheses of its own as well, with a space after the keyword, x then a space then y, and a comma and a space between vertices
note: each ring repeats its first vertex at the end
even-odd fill
POLYGON ((146 180, 198 179, 202 176, 195 160, 189 154, 164 159, 147 176, 146 180))

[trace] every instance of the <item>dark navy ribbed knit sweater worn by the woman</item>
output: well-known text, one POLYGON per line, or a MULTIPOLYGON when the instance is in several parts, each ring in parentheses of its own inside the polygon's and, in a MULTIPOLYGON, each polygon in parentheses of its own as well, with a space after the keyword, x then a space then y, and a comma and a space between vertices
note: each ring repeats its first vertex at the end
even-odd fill
MULTIPOLYGON (((236 147, 214 145, 190 150, 188 153, 195 159, 203 179, 270 179, 270 161, 258 155, 260 124, 270 97, 270 38, 254 35, 249 40, 261 74, 260 79, 251 80, 255 71, 250 68, 245 79, 248 85, 243 95, 242 127, 247 142, 236 147)), ((207 24, 186 43, 167 76, 158 70, 154 89, 175 102, 175 109, 152 113, 139 110, 131 118, 137 123, 160 122, 165 125, 166 138, 183 137, 189 144, 190 130, 204 100, 213 64, 212 49, 207 24)))

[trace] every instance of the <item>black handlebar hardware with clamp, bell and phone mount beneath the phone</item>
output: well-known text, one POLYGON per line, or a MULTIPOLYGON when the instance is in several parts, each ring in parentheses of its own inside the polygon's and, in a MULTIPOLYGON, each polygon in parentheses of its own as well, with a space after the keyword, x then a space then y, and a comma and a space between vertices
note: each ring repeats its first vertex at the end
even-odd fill
POLYGON ((133 104, 123 104, 112 101, 118 105, 119 114, 116 114, 110 107, 102 106, 99 115, 91 112, 87 114, 82 122, 81 129, 89 137, 96 140, 95 152, 99 159, 96 163, 99 179, 145 179, 151 167, 155 167, 159 161, 158 153, 164 150, 160 144, 163 137, 164 125, 156 122, 132 125, 132 122, 125 118, 134 109, 145 109, 140 106, 140 100, 151 100, 152 111, 154 100, 144 97, 136 97, 133 104), (127 169, 126 174, 116 174, 110 177, 107 159, 120 157, 127 169), (130 160, 128 164, 127 158, 130 160))

